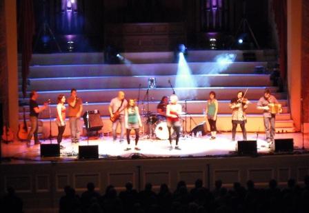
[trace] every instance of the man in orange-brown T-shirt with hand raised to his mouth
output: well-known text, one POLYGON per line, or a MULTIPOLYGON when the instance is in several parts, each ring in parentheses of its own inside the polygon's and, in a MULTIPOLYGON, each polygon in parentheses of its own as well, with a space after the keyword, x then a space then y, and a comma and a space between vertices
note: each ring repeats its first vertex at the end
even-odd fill
POLYGON ((71 130, 71 140, 72 143, 79 142, 79 136, 81 134, 81 112, 83 112, 83 101, 81 98, 77 97, 77 90, 71 90, 71 96, 68 98, 68 117, 71 130))

